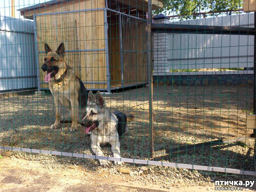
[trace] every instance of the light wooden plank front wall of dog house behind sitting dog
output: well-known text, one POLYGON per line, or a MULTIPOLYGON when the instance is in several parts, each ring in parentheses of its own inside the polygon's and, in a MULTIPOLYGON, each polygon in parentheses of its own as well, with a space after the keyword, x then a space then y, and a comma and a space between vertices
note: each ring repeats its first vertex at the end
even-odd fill
MULTIPOLYGON (((88 1, 71 4, 62 7, 51 7, 50 10, 42 10, 40 13, 56 13, 52 15, 37 16, 37 30, 44 30, 43 36, 38 33, 38 49, 44 51, 44 43, 49 44, 52 49, 57 49, 64 42, 66 62, 76 69, 76 75, 87 83, 86 88, 107 88, 106 82, 106 52, 104 36, 104 10, 93 10, 87 12, 74 12, 62 14, 70 10, 82 10, 104 7, 104 0, 88 1), (70 20, 75 20, 76 33, 72 33, 74 27, 70 20), (58 25, 56 26, 56 20, 58 25), (40 22, 42 21, 42 22, 40 22), (44 24, 46 23, 46 25, 44 24), (44 26, 43 26, 44 25, 44 26), (45 27, 47 26, 47 27, 45 27), (77 35, 77 37, 75 37, 77 35), (86 50, 86 51, 76 51, 86 50), (71 51, 71 52, 70 52, 71 51)), ((39 54, 39 65, 43 63, 43 54, 39 54)), ((45 73, 40 71, 40 79, 43 82, 45 73)), ((42 88, 46 86, 42 84, 42 88)))

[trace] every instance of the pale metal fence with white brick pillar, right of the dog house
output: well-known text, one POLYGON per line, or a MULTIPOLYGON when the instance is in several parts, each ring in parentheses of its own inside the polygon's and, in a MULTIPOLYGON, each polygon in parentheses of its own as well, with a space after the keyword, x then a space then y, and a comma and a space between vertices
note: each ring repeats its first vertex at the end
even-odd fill
MULTIPOLYGON (((175 25, 253 27, 254 13, 178 22, 175 25)), ((170 69, 253 67, 254 37, 209 34, 155 34, 154 72, 170 69), (160 57, 159 57, 160 56, 160 57)))

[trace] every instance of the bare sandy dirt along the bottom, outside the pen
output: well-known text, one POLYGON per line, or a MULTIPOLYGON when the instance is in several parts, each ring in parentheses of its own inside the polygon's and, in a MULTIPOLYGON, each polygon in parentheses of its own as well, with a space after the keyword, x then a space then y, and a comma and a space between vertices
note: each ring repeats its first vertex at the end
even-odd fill
MULTIPOLYGON (((86 171, 81 167, 57 169, 43 168, 38 161, 28 161, 24 159, 11 160, 6 157, 0 160, 0 189, 3 192, 34 192, 34 191, 129 191, 129 192, 149 192, 149 191, 180 191, 180 192, 205 192, 215 191, 214 183, 205 182, 203 185, 180 187, 183 179, 173 186, 163 187, 163 185, 137 183, 132 181, 129 174, 112 175, 108 169, 96 169, 96 171, 86 171)), ((189 175, 189 172, 187 172, 189 175)), ((145 178, 153 177, 152 173, 145 173, 145 178)), ((221 179, 217 178, 216 179, 221 179)), ((223 178, 222 178, 223 179, 223 178)), ((239 180, 242 177, 237 178, 239 180)), ((244 178, 247 179, 248 178, 244 178)), ((253 179, 252 177, 250 180, 253 179)), ((254 178, 255 179, 255 178, 254 178)), ((254 188, 253 188, 254 189, 254 188)), ((253 192, 253 189, 244 189, 253 192)))

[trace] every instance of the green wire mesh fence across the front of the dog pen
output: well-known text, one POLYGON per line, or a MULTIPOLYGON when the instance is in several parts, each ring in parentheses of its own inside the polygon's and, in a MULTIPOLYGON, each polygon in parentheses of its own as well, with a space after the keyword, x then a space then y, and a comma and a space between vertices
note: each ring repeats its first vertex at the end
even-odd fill
POLYGON ((2 84, 27 85, 1 90, 1 149, 97 158, 104 167, 109 160, 256 175, 255 127, 247 126, 253 14, 177 22, 159 15, 151 38, 144 0, 18 8, 26 19, 1 16, 1 23, 34 30, 1 30, 2 84))

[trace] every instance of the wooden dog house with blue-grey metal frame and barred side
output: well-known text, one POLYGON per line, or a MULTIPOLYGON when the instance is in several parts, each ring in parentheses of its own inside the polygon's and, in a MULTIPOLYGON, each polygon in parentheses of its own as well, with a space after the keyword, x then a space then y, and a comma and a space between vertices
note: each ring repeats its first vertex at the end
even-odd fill
MULTIPOLYGON (((152 9, 163 7, 153 0, 152 9)), ((19 9, 36 28, 39 88, 44 43, 64 42, 66 60, 88 90, 110 92, 147 83, 147 0, 52 0, 19 9)))

